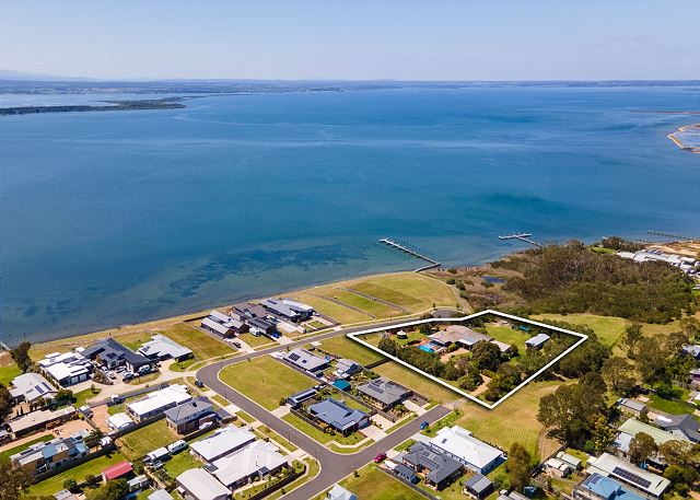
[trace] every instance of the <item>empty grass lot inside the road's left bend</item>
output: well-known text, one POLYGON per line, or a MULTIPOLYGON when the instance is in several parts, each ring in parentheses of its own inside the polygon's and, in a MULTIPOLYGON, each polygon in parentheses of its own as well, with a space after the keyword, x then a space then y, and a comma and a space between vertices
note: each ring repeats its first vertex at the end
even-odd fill
POLYGON ((281 398, 312 387, 314 381, 269 356, 224 368, 221 381, 272 410, 281 398))

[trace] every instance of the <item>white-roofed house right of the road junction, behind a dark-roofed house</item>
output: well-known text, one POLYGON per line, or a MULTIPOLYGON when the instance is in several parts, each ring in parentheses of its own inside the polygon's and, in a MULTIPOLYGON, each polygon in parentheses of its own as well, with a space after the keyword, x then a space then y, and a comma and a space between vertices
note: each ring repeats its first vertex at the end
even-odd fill
POLYGON ((440 429, 430 445, 479 474, 488 474, 503 461, 501 450, 479 441, 459 426, 440 429))

